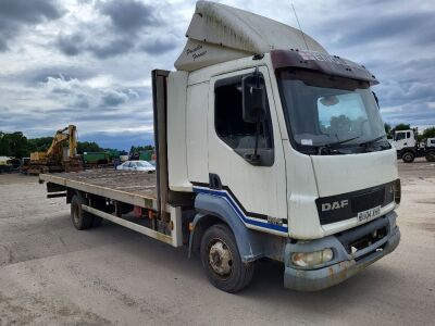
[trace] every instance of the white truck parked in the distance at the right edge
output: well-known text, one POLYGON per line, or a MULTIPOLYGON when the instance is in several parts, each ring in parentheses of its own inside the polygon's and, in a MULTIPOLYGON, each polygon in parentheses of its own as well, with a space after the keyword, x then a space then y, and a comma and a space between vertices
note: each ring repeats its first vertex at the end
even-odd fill
POLYGON ((405 163, 412 163, 415 158, 423 156, 427 162, 435 162, 435 139, 427 138, 421 145, 417 136, 417 128, 394 131, 391 145, 397 150, 397 158, 405 163))

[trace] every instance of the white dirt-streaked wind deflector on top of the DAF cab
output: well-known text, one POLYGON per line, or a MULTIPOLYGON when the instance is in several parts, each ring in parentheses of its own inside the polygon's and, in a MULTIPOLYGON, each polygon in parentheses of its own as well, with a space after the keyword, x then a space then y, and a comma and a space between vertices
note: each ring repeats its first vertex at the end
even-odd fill
POLYGON ((273 49, 304 49, 327 53, 302 32, 244 10, 198 1, 186 32, 186 46, 175 62, 178 71, 196 71, 204 66, 269 53, 273 49))

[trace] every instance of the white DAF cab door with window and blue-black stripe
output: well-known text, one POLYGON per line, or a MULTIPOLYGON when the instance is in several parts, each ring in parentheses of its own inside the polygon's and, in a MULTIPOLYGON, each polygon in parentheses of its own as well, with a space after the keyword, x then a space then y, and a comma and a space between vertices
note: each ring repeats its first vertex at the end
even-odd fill
POLYGON ((223 196, 249 228, 287 234, 286 172, 275 111, 274 93, 265 66, 259 66, 266 90, 266 113, 257 140, 262 163, 247 158, 254 151, 257 124, 244 121, 241 78, 254 68, 212 77, 209 89, 207 187, 223 196))

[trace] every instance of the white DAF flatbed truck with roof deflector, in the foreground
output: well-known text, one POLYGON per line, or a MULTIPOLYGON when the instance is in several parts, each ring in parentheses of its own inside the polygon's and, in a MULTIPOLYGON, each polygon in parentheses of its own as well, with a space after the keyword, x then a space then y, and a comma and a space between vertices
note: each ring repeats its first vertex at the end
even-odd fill
POLYGON ((176 71, 152 72, 156 175, 40 175, 75 227, 105 218, 186 244, 228 292, 260 259, 310 291, 394 251, 400 181, 376 78, 299 29, 217 3, 197 3, 186 36, 176 71))

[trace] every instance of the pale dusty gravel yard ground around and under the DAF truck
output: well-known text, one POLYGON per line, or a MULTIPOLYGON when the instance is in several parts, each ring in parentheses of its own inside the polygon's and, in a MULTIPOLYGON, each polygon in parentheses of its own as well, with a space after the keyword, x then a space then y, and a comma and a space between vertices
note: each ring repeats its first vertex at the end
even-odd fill
POLYGON ((282 265, 262 262, 238 294, 214 289, 186 249, 108 223, 77 231, 35 177, 0 175, 0 325, 433 325, 435 163, 399 170, 394 253, 314 293, 284 289, 282 265))

